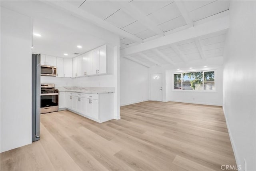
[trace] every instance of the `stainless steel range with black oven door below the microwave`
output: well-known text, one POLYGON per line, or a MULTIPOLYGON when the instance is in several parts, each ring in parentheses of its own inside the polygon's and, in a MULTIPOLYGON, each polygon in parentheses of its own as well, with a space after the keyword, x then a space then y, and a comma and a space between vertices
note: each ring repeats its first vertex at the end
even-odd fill
POLYGON ((54 86, 54 84, 41 84, 41 114, 58 111, 59 91, 54 86))

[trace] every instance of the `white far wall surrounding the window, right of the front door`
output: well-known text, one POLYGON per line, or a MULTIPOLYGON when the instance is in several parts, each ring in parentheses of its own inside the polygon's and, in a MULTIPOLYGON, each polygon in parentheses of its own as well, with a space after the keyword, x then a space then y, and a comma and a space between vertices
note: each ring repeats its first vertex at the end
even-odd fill
POLYGON ((149 70, 150 74, 162 73, 163 81, 163 101, 176 101, 183 103, 196 103, 205 105, 219 105, 222 106, 222 62, 223 57, 208 58, 204 61, 194 61, 188 64, 164 65, 162 67, 152 67, 149 70), (204 68, 203 66, 207 66, 204 68), (192 69, 189 69, 192 67, 192 69), (177 70, 177 69, 180 70, 177 70), (212 92, 198 92, 198 91, 174 91, 173 90, 173 74, 177 72, 188 71, 203 71, 214 70, 216 91, 212 92))

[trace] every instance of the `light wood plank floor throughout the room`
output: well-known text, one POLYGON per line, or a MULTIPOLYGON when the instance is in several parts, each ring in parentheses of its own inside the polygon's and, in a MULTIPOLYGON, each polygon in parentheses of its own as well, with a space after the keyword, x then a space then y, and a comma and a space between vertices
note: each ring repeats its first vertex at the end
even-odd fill
POLYGON ((1 153, 1 170, 210 171, 236 165, 222 107, 146 101, 96 123, 41 115, 40 141, 1 153))

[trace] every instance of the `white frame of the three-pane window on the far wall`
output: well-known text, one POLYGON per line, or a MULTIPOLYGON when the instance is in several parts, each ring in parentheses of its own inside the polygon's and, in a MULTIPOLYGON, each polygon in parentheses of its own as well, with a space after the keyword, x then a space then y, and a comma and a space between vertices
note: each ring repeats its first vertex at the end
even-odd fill
POLYGON ((184 71, 184 72, 173 72, 172 73, 172 91, 182 91, 182 92, 217 92, 217 70, 195 70, 195 71, 184 71), (204 85, 204 72, 214 72, 214 85, 215 85, 215 89, 205 89, 205 85, 204 85), (183 86, 183 74, 182 73, 187 73, 187 72, 203 72, 203 89, 202 90, 191 90, 191 89, 174 89, 174 74, 181 74, 181 88, 183 86))

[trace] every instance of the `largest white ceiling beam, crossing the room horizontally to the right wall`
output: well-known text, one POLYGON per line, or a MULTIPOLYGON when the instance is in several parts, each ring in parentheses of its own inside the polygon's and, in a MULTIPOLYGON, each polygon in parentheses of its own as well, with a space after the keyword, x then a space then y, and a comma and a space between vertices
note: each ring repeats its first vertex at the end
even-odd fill
POLYGON ((169 34, 169 35, 157 38, 155 40, 144 42, 143 44, 138 44, 136 46, 131 46, 126 49, 120 50, 120 56, 125 56, 129 54, 142 52, 145 50, 154 49, 160 46, 173 44, 183 40, 204 36, 206 34, 227 30, 228 28, 229 28, 229 17, 225 16, 223 18, 218 18, 216 20, 206 22, 204 24, 200 24, 192 28, 188 28, 186 30, 181 30, 179 32, 175 32, 173 34, 169 34))

